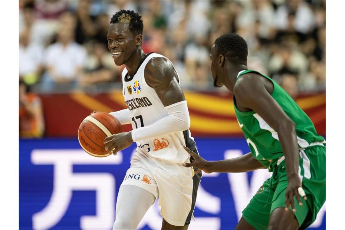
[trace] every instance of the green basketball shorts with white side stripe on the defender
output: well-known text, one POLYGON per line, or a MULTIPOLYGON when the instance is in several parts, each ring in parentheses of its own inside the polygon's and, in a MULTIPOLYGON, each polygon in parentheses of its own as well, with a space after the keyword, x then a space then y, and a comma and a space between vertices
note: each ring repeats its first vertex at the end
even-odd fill
MULTIPOLYGON (((294 215, 299 229, 306 229, 315 221, 326 200, 326 147, 313 146, 300 150, 298 175, 307 200, 301 197, 303 205, 299 206, 294 198, 294 215)), ((270 213, 275 208, 285 207, 286 188, 285 160, 281 157, 273 166, 273 176, 264 182, 243 210, 243 218, 255 229, 267 229, 270 213)))

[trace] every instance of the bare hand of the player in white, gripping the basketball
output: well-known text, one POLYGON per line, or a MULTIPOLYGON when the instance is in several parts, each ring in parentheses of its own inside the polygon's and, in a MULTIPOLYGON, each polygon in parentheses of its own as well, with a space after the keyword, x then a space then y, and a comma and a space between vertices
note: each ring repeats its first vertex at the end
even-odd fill
POLYGON ((133 143, 131 132, 121 132, 104 139, 104 147, 109 154, 114 154, 122 149, 126 149, 133 143))

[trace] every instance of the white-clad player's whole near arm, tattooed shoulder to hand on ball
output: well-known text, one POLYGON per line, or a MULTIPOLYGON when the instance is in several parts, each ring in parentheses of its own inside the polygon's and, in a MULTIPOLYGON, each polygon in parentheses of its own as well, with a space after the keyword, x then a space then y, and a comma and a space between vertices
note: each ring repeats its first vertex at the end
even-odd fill
POLYGON ((165 106, 167 116, 148 126, 107 137, 105 148, 110 153, 116 154, 121 149, 127 148, 133 141, 183 131, 190 126, 187 102, 178 84, 177 73, 172 63, 166 58, 152 58, 145 67, 144 76, 146 83, 156 91, 165 106))

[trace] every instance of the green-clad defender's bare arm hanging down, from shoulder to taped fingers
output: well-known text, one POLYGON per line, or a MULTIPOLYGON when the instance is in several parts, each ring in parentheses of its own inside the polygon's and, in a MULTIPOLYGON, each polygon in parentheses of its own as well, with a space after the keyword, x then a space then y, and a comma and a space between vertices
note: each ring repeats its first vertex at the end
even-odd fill
POLYGON ((236 82, 234 94, 236 104, 242 108, 255 111, 277 133, 285 156, 288 185, 286 189, 286 206, 294 207, 293 197, 300 202, 298 188, 302 182, 298 177, 298 144, 295 123, 287 116, 277 101, 268 92, 272 82, 264 77, 246 74, 236 82))

